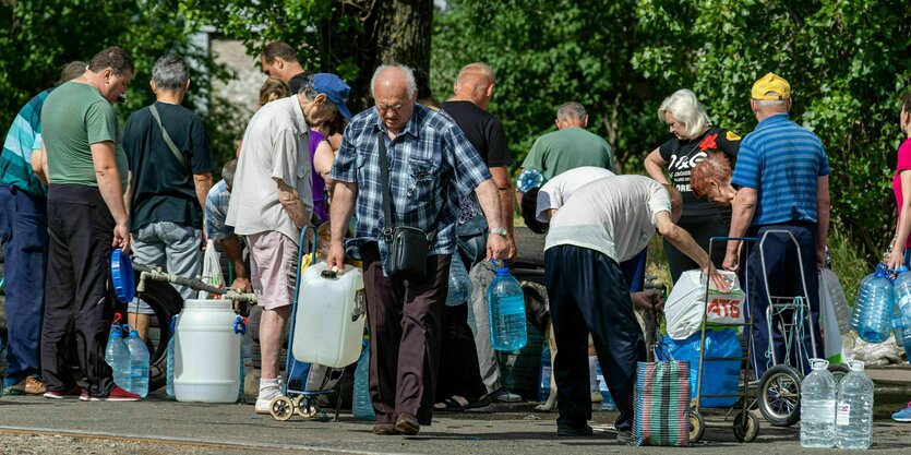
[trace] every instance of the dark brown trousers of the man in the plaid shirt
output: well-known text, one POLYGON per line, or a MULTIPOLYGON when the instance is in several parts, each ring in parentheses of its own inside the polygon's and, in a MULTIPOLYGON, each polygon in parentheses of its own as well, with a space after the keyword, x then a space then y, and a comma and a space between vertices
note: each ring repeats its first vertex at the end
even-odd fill
POLYGON ((449 255, 427 258, 422 282, 389 278, 375 243, 361 247, 370 322, 370 400, 380 423, 403 412, 430 424, 449 255))

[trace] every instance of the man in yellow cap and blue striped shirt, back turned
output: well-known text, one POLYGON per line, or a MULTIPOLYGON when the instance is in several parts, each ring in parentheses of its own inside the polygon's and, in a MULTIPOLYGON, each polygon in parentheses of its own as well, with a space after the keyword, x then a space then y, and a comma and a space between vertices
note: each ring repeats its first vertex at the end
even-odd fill
MULTIPOLYGON (((733 202, 730 237, 762 238, 765 274, 758 246, 748 255, 745 277, 750 284, 747 303, 753 314, 753 362, 759 378, 771 366, 766 309, 768 296, 804 296, 810 299, 813 326, 805 326, 803 352, 793 352, 791 364, 808 372, 807 357, 818 357, 810 337, 822 349, 819 337, 818 267, 825 264, 826 232, 829 227, 829 160, 819 137, 788 117, 791 86, 768 73, 753 84, 750 107, 759 124, 743 139, 731 183, 738 188, 733 202), (802 272, 802 273, 801 273, 802 272), (803 282, 801 280, 803 277, 803 282), (804 289, 804 285, 806 288, 804 289), (812 328, 812 330, 811 330, 812 328)), ((724 268, 740 268, 740 242, 728 242, 724 268)), ((775 324, 777 326, 777 324, 775 324)), ((771 334, 778 363, 784 362, 782 334, 771 334)), ((822 355, 822 350, 819 351, 822 355)))

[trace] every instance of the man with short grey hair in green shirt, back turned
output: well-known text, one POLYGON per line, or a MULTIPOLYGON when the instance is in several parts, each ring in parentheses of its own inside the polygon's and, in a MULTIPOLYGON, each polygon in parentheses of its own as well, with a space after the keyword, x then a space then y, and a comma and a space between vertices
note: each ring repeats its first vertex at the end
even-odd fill
POLYGON ((554 122, 556 131, 535 141, 522 164, 523 168, 538 169, 548 180, 583 166, 614 171, 611 146, 601 136, 585 129, 588 125, 588 115, 583 105, 576 101, 564 103, 556 110, 554 122))

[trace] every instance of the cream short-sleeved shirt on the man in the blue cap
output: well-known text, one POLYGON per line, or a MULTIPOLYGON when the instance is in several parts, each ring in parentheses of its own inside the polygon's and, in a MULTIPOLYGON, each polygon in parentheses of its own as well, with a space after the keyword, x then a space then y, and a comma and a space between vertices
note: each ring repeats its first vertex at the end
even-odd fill
POLYGON ((238 157, 226 224, 239 235, 275 230, 295 243, 300 229, 278 202, 278 182, 297 189, 307 219, 313 214, 309 128, 297 96, 276 99, 250 119, 238 157))

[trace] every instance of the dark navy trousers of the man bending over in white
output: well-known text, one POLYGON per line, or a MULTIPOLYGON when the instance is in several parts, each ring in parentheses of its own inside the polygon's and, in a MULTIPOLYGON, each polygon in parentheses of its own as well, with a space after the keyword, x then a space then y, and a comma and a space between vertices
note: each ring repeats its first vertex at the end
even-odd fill
POLYGON ((636 362, 646 360, 642 328, 633 313, 626 278, 603 253, 575 246, 544 252, 544 279, 556 342, 558 422, 584 423, 591 418, 588 334, 620 410, 616 429, 633 428, 636 362))

